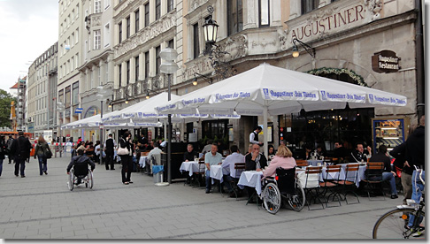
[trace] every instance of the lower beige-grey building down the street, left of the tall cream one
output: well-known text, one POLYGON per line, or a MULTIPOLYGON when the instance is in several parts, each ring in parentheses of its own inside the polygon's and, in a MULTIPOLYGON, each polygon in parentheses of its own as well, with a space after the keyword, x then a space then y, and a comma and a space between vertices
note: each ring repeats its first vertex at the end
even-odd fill
POLYGON ((38 137, 55 127, 57 97, 58 42, 37 57, 28 69, 27 132, 38 137))

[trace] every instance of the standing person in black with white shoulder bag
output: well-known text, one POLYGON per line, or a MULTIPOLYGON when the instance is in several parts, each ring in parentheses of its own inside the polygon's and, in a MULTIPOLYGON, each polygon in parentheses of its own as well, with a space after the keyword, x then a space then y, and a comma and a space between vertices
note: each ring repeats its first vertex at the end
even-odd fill
POLYGON ((131 140, 131 134, 129 132, 124 133, 121 140, 119 141, 119 147, 121 149, 127 149, 127 154, 118 153, 121 157, 121 176, 122 183, 128 185, 133 183, 131 181, 131 172, 133 171, 133 142, 131 140))

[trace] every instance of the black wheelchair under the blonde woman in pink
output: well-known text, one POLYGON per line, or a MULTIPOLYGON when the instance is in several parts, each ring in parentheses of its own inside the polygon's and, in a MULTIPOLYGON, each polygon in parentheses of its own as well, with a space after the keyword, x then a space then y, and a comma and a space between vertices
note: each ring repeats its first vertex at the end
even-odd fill
POLYGON ((296 168, 288 170, 277 168, 274 179, 273 177, 265 179, 261 198, 263 208, 271 214, 276 214, 280 210, 282 200, 284 205, 288 203, 292 210, 302 210, 306 203, 306 196, 296 179, 296 168))

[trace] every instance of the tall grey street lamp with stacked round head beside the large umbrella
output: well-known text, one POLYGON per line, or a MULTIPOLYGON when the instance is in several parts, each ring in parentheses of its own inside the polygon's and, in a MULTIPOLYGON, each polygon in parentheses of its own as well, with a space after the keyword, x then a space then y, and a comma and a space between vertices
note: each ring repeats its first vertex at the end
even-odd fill
MULTIPOLYGON (((167 95, 167 101, 170 101, 171 99, 171 90, 170 90, 170 83, 171 83, 171 74, 178 71, 179 67, 178 65, 173 62, 176 57, 178 57, 178 52, 176 50, 173 50, 172 48, 166 48, 164 50, 160 51, 160 57, 163 61, 160 65, 160 71, 167 74, 167 80, 168 80, 168 95, 167 95)), ((167 118, 167 123, 169 125, 169 130, 167 131, 167 180, 169 184, 172 184, 172 169, 171 169, 171 161, 172 161, 172 114, 169 113, 169 116, 167 118)))

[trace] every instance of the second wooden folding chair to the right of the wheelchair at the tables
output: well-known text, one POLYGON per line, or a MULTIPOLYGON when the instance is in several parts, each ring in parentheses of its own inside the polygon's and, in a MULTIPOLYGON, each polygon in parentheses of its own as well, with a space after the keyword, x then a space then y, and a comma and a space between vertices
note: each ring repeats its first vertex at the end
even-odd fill
POLYGON ((340 207, 341 204, 341 194, 339 193, 339 185, 337 182, 339 182, 339 177, 341 175, 341 165, 328 165, 326 166, 326 177, 324 178, 324 182, 319 183, 319 187, 322 189, 322 198, 326 202, 326 208, 331 207, 340 207), (335 176, 333 178, 333 174, 335 173, 335 176), (326 194, 328 191, 331 191, 332 193, 329 194, 326 197, 326 194), (332 197, 332 201, 334 201, 334 198, 337 199, 337 202, 339 202, 339 206, 330 206, 328 207, 328 201, 332 197))

